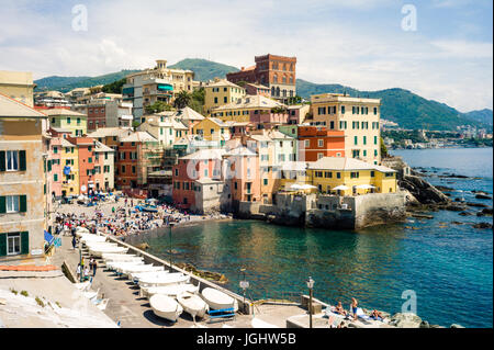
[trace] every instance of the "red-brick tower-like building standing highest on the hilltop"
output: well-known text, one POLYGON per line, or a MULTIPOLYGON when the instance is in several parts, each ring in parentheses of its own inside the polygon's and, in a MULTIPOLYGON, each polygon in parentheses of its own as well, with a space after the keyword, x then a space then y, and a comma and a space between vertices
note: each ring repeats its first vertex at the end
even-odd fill
POLYGON ((271 91, 271 98, 288 101, 296 95, 296 57, 263 55, 255 57, 256 66, 226 75, 234 83, 260 83, 271 91))

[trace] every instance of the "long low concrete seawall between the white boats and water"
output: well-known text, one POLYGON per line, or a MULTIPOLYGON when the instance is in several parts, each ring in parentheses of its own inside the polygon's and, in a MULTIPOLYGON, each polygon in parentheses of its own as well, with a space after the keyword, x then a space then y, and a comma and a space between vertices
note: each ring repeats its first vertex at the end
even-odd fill
MULTIPOLYGON (((160 233, 156 232, 156 233, 151 233, 151 234, 158 235, 160 233)), ((144 261, 146 263, 154 263, 154 264, 157 264, 157 266, 164 266, 164 267, 166 267, 168 269, 170 268, 170 262, 169 261, 165 261, 162 259, 159 259, 159 258, 157 258, 157 257, 155 257, 155 256, 153 256, 153 255, 150 255, 150 253, 148 253, 148 252, 146 252, 144 250, 141 250, 141 249, 138 249, 138 248, 136 248, 134 246, 131 246, 130 244, 124 242, 124 241, 122 241, 122 240, 120 240, 120 239, 117 239, 117 238, 115 238, 113 236, 108 236, 106 235, 106 237, 111 241, 116 242, 119 246, 128 248, 128 252, 130 253, 134 253, 134 255, 136 255, 138 257, 143 257, 144 261)), ((211 281, 207 281, 207 280, 204 280, 204 279, 202 279, 200 276, 197 276, 197 275, 194 275, 194 274, 192 274, 192 273, 190 273, 190 272, 188 272, 186 270, 182 270, 182 269, 180 269, 180 268, 178 268, 178 267, 176 267, 173 264, 171 266, 171 270, 173 272, 181 272, 183 274, 190 275, 191 283, 194 284, 194 285, 199 285, 200 286, 199 287, 200 292, 202 292, 202 290, 204 290, 205 287, 212 287, 212 289, 215 289, 217 291, 221 291, 221 292, 229 295, 231 297, 233 297, 233 298, 235 298, 237 301, 238 309, 242 311, 242 313, 244 313, 246 315, 251 315, 252 314, 252 306, 251 306, 252 302, 250 300, 246 298, 245 303, 244 303, 244 296, 240 296, 240 295, 238 295, 238 294, 236 294, 236 293, 234 293, 232 291, 228 291, 228 290, 226 290, 226 289, 224 289, 224 287, 222 287, 222 286, 220 286, 220 285, 217 285, 217 284, 215 284, 215 283, 213 283, 211 281)))

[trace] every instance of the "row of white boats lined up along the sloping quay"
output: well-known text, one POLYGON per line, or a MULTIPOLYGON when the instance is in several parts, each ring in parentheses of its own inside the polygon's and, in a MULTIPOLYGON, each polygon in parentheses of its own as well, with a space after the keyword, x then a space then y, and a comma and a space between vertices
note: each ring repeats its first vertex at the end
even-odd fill
POLYGON ((177 321, 186 312, 195 323, 195 317, 205 317, 210 309, 238 311, 235 298, 212 287, 200 292, 200 285, 193 285, 189 274, 166 271, 164 266, 147 264, 143 257, 127 253, 128 248, 106 241, 105 236, 90 234, 85 227, 78 227, 76 235, 89 253, 102 259, 109 270, 138 285, 139 296, 149 300, 158 317, 177 321))

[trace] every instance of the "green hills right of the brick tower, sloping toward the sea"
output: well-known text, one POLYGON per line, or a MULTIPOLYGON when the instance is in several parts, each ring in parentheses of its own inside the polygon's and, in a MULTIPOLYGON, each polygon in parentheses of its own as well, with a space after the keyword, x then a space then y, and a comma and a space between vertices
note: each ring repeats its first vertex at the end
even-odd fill
POLYGON ((351 97, 381 99, 381 116, 404 128, 453 129, 459 125, 485 126, 483 121, 475 120, 472 115, 398 88, 359 91, 340 84, 318 84, 297 79, 296 92, 305 99, 310 99, 311 94, 324 92, 347 92, 351 97))

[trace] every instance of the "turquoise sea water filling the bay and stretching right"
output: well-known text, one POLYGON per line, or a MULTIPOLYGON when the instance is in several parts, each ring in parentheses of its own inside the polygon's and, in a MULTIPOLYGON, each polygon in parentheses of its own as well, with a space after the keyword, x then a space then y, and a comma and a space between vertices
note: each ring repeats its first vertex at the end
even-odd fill
MULTIPOLYGON (((430 179, 459 190, 492 193, 492 148, 403 150, 411 166, 436 167, 479 180, 430 179), (448 168, 448 169, 446 169, 448 168), (452 182, 452 183, 451 183, 452 182)), ((465 192, 468 201, 475 200, 465 192)), ((483 201, 492 205, 492 201, 483 201)), ((307 293, 305 280, 315 280, 314 295, 325 302, 350 297, 361 306, 401 312, 402 293, 415 291, 417 314, 431 324, 493 326, 492 232, 452 225, 452 221, 491 222, 492 217, 433 213, 434 219, 411 219, 360 232, 335 232, 236 221, 204 223, 173 229, 175 261, 224 273, 228 289, 242 294, 238 282, 247 269, 254 298, 282 297, 282 292, 307 293), (442 227, 441 227, 442 226, 442 227)), ((168 259, 168 237, 149 240, 150 252, 168 259)))

